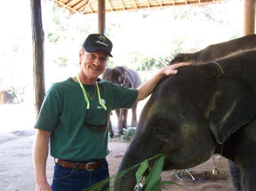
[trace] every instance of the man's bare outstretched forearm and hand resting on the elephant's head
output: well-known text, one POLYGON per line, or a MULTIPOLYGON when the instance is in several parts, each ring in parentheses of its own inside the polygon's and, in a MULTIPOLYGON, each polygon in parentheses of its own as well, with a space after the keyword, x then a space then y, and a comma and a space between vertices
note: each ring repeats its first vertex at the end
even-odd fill
POLYGON ((147 96, 149 96, 155 89, 156 84, 158 84, 159 80, 164 75, 171 75, 171 74, 177 74, 177 70, 179 67, 183 66, 189 66, 191 63, 188 62, 181 62, 181 63, 175 63, 174 65, 166 66, 163 69, 159 70, 158 73, 156 73, 152 78, 148 79, 146 82, 141 84, 137 88, 138 90, 138 97, 136 101, 141 101, 145 99, 147 96))

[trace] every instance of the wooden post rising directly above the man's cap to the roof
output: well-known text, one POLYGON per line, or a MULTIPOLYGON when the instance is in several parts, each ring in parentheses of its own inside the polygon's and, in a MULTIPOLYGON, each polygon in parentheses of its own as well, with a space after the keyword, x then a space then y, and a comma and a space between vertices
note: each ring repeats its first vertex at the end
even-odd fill
POLYGON ((106 35, 105 0, 98 0, 98 33, 106 35))

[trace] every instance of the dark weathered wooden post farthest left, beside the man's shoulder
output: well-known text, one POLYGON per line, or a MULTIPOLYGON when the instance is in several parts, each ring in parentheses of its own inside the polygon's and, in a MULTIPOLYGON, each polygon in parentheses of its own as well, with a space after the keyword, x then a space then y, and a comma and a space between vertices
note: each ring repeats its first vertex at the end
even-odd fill
POLYGON ((36 118, 44 100, 44 31, 42 24, 41 0, 31 0, 31 23, 34 62, 34 105, 36 118))

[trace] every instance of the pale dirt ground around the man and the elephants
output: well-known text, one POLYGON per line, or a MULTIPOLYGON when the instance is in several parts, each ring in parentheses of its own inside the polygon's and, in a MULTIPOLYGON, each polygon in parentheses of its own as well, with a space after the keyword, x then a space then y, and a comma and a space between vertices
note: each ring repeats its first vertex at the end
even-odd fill
MULTIPOLYGON (((31 105, 0 105, 0 190, 35 190, 34 169, 32 164, 32 144, 34 141, 34 108, 31 105)), ((122 156, 129 145, 120 137, 109 139, 110 176, 117 171, 122 156)), ((215 155, 218 163, 219 155, 215 155)), ((54 161, 48 156, 47 177, 51 184, 54 161)), ((221 159, 218 176, 212 175, 213 159, 193 167, 191 175, 184 173, 179 180, 174 176, 174 171, 162 172, 162 181, 172 181, 183 187, 165 184, 162 191, 232 191, 228 164, 225 158, 221 159)))

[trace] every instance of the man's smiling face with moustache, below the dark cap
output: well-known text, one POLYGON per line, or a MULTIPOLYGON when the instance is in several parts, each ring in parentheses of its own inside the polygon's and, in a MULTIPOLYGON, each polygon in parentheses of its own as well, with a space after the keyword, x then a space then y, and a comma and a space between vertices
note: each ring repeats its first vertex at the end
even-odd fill
POLYGON ((97 50, 91 53, 86 52, 85 49, 80 50, 80 73, 90 80, 96 80, 104 72, 108 58, 109 55, 105 50, 97 50))

